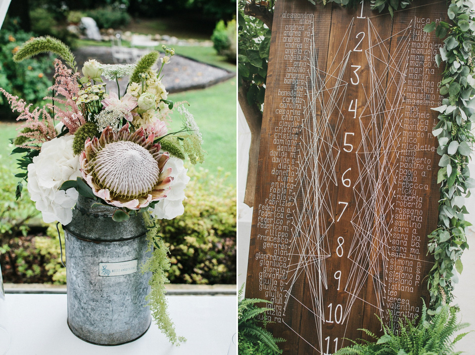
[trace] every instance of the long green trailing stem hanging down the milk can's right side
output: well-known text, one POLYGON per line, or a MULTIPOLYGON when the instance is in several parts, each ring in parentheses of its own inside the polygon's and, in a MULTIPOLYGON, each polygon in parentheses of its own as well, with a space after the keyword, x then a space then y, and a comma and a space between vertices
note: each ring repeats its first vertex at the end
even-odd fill
POLYGON ((148 212, 144 212, 143 221, 147 227, 147 252, 152 251, 152 257, 149 258, 145 264, 142 265, 143 272, 151 272, 151 278, 148 284, 151 287, 150 293, 145 300, 152 311, 153 319, 160 330, 165 334, 170 343, 179 346, 180 343, 185 342, 184 337, 177 336, 174 324, 168 314, 168 304, 165 299, 165 284, 169 283, 166 276, 166 271, 170 269, 170 261, 168 260, 168 248, 165 246, 162 238, 158 233, 158 224, 154 221, 148 212), (153 246, 156 248, 153 248, 153 246))

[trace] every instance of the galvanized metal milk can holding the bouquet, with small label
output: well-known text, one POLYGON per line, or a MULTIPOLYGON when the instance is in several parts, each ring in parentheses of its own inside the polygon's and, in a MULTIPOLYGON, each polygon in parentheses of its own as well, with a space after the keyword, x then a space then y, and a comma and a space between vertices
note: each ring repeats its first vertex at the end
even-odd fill
POLYGON ((68 325, 79 338, 118 345, 141 337, 150 326, 145 296, 150 273, 142 215, 114 222, 113 206, 79 196, 66 237, 68 325))

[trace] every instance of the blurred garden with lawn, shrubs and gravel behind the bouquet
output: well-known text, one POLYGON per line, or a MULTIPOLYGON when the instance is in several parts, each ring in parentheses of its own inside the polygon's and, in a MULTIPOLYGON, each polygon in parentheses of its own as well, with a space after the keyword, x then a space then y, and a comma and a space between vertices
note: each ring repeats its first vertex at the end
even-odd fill
MULTIPOLYGON (((164 82, 174 92, 168 98, 190 104, 207 156, 201 165, 188 164, 192 179, 185 214, 161 223, 171 251, 172 283, 236 284, 235 14, 235 0, 12 0, 0 30, 0 87, 36 105, 50 95, 54 57, 14 63, 13 53, 31 37, 49 35, 68 44, 79 68, 92 58, 132 63, 134 56, 161 50, 162 44, 175 49, 169 73, 164 72, 172 78, 164 82), (88 34, 85 17, 95 21, 95 36, 88 34), (114 45, 130 57, 115 55, 114 45)), ((26 186, 15 199, 20 178, 9 140, 19 127, 15 118, 0 95, 3 281, 64 284, 56 225, 41 220, 26 186)), ((62 231, 61 238, 64 246, 62 231)))

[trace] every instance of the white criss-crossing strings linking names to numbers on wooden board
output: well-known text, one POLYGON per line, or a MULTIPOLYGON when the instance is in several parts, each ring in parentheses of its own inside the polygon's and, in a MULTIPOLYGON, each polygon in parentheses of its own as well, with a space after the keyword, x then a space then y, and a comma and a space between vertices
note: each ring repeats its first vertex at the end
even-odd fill
MULTIPOLYGON (((313 333, 316 337, 312 339, 305 339, 297 329, 285 324, 321 354, 328 348, 327 342, 324 342, 328 300, 324 305, 323 295, 328 290, 329 277, 333 277, 329 274, 326 263, 332 256, 330 245, 333 245, 333 250, 335 245, 334 241, 330 243, 331 238, 336 238, 331 233, 332 226, 341 217, 341 214, 336 216, 335 212, 342 208, 336 205, 334 196, 335 188, 341 184, 341 176, 337 177, 335 166, 343 148, 339 142, 344 128, 344 112, 347 111, 343 104, 346 102, 349 85, 343 80, 343 76, 349 69, 352 53, 349 40, 351 36, 355 36, 354 20, 353 18, 348 25, 326 70, 322 70, 318 62, 315 29, 311 33, 307 105, 303 111, 298 163, 295 167, 292 239, 288 252, 290 263, 284 286, 283 313, 286 315, 286 311, 289 312, 290 301, 313 313, 313 333), (294 286, 302 282, 311 296, 311 304, 305 302, 303 296, 299 296, 294 290, 294 286)), ((393 222, 393 200, 399 170, 397 162, 402 151, 400 141, 405 108, 404 85, 411 45, 412 21, 403 31, 384 40, 380 38, 370 19, 367 19, 367 24, 369 45, 365 54, 370 87, 362 86, 366 103, 357 117, 362 139, 355 146, 358 178, 352 186, 356 203, 350 218, 354 235, 350 238, 351 243, 348 243, 351 267, 346 281, 342 282, 342 288, 348 295, 347 302, 342 305, 339 323, 343 327, 348 324, 355 301, 366 299, 362 294, 364 285, 371 285, 373 288, 376 300, 376 304, 371 305, 375 309, 373 313, 384 316, 388 286, 386 266, 392 235, 389 225, 393 222)), ((306 297, 308 298, 308 294, 306 297)))

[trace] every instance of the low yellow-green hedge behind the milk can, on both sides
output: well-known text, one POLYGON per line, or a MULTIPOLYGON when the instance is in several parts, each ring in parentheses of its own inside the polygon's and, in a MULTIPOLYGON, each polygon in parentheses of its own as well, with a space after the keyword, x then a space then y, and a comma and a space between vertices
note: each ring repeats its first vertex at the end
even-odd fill
MULTIPOLYGON (((1 169, 7 170, 5 167, 1 169)), ((14 216, 27 211, 38 214, 28 194, 24 194, 20 202, 11 202, 15 196, 16 178, 13 173, 3 174, 3 170, 0 170, 0 197, 4 196, 5 203, 11 204, 10 213, 14 216)), ((171 253, 168 277, 172 283, 236 283, 236 188, 225 185, 225 174, 212 177, 206 170, 190 168, 189 175, 191 181, 186 189, 185 214, 160 222, 163 240, 171 253)), ((27 228, 21 225, 26 235, 27 228)), ((5 280, 66 282, 55 223, 49 224, 47 236, 18 238, 14 235, 12 231, 11 241, 3 243, 3 249, 8 249, 9 254, 0 255, 2 266, 3 263, 12 265, 5 280)), ((62 231, 61 238, 64 246, 62 231)))

